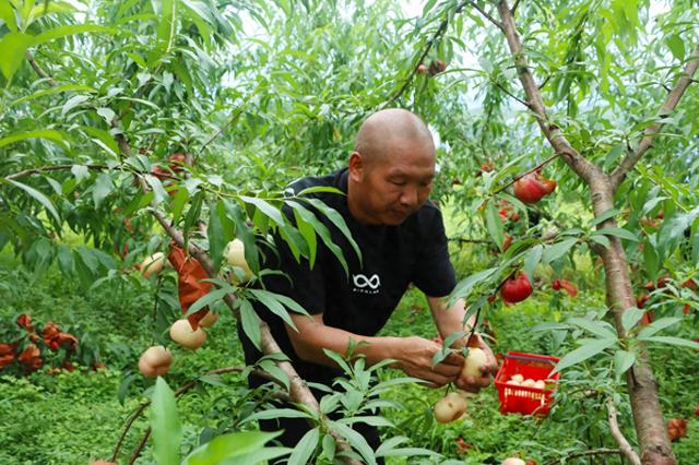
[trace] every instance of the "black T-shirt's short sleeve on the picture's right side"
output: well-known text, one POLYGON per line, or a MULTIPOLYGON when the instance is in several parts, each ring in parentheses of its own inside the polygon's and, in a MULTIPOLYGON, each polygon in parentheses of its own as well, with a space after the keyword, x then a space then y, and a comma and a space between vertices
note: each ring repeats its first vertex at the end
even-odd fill
POLYGON ((457 286, 454 267, 449 260, 449 248, 441 212, 429 207, 420 217, 418 253, 413 283, 429 297, 449 295, 457 286))

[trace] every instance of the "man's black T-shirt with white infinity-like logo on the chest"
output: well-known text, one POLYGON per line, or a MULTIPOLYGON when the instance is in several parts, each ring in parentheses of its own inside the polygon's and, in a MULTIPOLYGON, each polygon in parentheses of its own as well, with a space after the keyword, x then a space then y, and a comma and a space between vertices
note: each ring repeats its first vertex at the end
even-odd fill
MULTIPOLYGON (((346 194, 347 175, 345 168, 328 176, 301 178, 291 188, 298 193, 311 187, 333 187, 346 194)), ((320 199, 342 215, 362 251, 362 262, 344 234, 325 215, 317 213, 318 219, 330 230, 332 241, 342 250, 350 274, 320 238, 311 269, 303 258, 298 263, 277 237, 280 257, 270 253, 264 266, 281 270, 288 277, 265 276, 268 290, 293 298, 311 314, 323 313, 328 326, 371 336, 383 327, 410 283, 430 297, 447 296, 454 288, 454 270, 449 261, 441 213, 429 200, 401 225, 389 226, 363 225, 355 220, 346 195, 316 192, 308 196, 320 199)), ((308 204, 305 206, 312 210, 308 204)), ((285 213, 293 215, 291 207, 285 207, 285 213)), ((301 378, 329 383, 337 375, 336 370, 300 360, 294 353, 284 322, 261 303, 254 307, 301 378)), ((246 361, 257 361, 261 355, 242 334, 241 338, 246 361)))

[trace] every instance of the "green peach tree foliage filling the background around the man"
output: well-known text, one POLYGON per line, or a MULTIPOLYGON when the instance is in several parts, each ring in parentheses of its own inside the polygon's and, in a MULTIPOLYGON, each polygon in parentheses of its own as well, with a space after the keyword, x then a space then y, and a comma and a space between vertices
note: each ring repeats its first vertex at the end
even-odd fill
MULTIPOLYGON (((66 321, 81 341, 82 326, 123 330, 94 341, 125 368, 118 396, 128 403, 150 384, 127 367, 147 343, 166 342, 166 327, 180 314, 171 275, 144 283, 132 273, 142 255, 169 243, 153 212, 209 251, 224 274, 235 273, 221 257, 233 238, 245 242, 256 274, 264 272, 260 257, 274 253, 270 233, 297 258, 311 259, 318 238, 329 240, 318 216, 332 213, 283 186, 340 167, 352 148, 348 138, 372 110, 406 107, 439 139, 434 193, 453 208, 454 236, 486 243, 461 259, 469 269, 452 296, 465 298, 472 313, 494 320, 506 311, 488 297, 522 267, 535 296, 562 312, 565 300, 548 293, 552 278, 577 278, 585 263, 592 273, 573 281, 585 284, 581 289, 600 286, 596 252, 611 238, 623 241, 639 298, 652 282, 643 310, 653 311, 654 325, 635 329, 643 311, 630 309, 628 334, 619 336, 605 322, 604 302, 595 301, 570 317, 554 313, 542 339, 545 348, 567 350, 559 369, 625 405, 619 379, 638 358, 639 342, 661 355, 668 348, 656 344, 696 347, 686 325, 699 318, 689 284, 699 282, 697 86, 672 114, 659 112, 696 46, 696 5, 577 0, 523 2, 517 11, 547 123, 587 159, 609 172, 637 150, 643 131, 665 124, 626 176, 614 208, 596 218, 582 182, 560 159, 545 168, 558 190, 543 202, 523 204, 502 190, 549 148, 522 105, 502 35, 464 7, 428 1, 420 16, 405 19, 389 0, 0 0, 0 250, 9 245, 22 264, 3 278, 26 285, 49 276, 67 295, 94 298, 66 320, 55 308, 40 317, 66 321), (438 60, 449 63, 443 72, 416 72, 438 60), (186 154, 185 162, 168 158, 176 153, 186 154), (618 227, 599 229, 608 218, 618 227), (506 248, 508 235, 513 240, 506 248), (54 265, 68 279, 57 279, 54 265), (119 311, 115 298, 130 310, 119 311)), ((248 315, 248 333, 257 321, 250 299, 282 318, 298 310, 280 296, 214 284, 197 306, 214 306, 232 291, 248 315)), ((3 308, 8 319, 39 307, 47 293, 22 295, 5 279, 0 289, 21 306, 3 308)), ((96 359, 85 357, 85 363, 96 359)), ((245 419, 239 409, 251 412, 244 398, 224 408, 237 412, 236 426, 245 419)), ((585 427, 589 444, 606 434, 600 418, 585 427)), ((308 449, 320 438, 309 436, 308 449)), ((427 442, 439 449, 435 440, 427 442)))

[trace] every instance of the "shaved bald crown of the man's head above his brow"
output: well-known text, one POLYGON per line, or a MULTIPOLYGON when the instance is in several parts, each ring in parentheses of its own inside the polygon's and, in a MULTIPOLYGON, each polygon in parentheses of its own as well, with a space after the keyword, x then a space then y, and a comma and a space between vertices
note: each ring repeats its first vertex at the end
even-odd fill
POLYGON ((371 115, 362 123, 354 150, 371 165, 384 160, 389 154, 400 156, 403 147, 418 146, 434 157, 435 143, 427 126, 407 110, 390 108, 371 115))

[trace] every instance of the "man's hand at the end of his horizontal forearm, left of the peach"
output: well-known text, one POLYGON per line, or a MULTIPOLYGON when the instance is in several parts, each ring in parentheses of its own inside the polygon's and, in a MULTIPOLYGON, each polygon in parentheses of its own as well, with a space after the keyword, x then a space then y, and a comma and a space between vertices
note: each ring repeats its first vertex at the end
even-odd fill
POLYGON ((452 353, 433 368, 433 357, 441 350, 441 345, 418 336, 401 337, 396 349, 393 358, 398 360, 398 368, 411 377, 428 381, 431 388, 457 381, 464 363, 461 355, 452 353))

